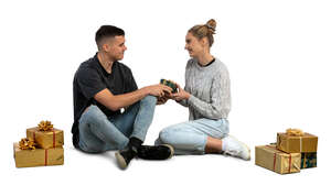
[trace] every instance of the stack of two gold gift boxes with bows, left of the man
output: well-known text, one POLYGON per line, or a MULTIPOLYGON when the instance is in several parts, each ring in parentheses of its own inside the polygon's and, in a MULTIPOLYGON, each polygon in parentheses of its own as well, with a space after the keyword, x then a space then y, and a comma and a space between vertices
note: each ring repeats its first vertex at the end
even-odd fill
POLYGON ((13 144, 17 167, 62 165, 63 141, 63 131, 53 128, 51 121, 26 129, 26 138, 13 144))

